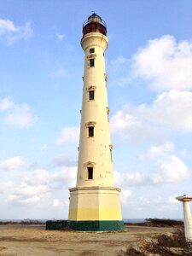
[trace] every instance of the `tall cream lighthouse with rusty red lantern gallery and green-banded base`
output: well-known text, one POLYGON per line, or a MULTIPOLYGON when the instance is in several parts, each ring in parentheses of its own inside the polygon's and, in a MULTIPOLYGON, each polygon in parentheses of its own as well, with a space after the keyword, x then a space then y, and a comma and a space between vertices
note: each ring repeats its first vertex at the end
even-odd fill
POLYGON ((123 230, 120 189, 113 184, 109 133, 107 27, 99 15, 84 22, 84 89, 77 184, 70 191, 68 223, 73 230, 123 230))

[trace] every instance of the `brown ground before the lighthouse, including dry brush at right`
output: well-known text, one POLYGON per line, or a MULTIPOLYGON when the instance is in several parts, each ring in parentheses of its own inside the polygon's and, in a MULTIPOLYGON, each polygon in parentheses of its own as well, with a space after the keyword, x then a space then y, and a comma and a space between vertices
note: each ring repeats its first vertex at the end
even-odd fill
POLYGON ((0 256, 192 255, 183 228, 126 226, 121 232, 46 231, 44 225, 0 225, 0 256))

